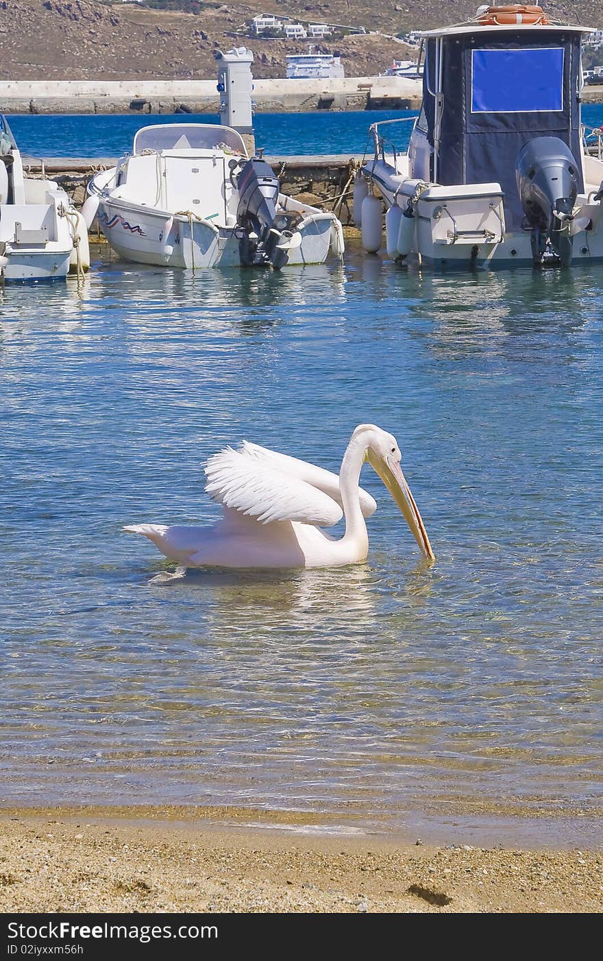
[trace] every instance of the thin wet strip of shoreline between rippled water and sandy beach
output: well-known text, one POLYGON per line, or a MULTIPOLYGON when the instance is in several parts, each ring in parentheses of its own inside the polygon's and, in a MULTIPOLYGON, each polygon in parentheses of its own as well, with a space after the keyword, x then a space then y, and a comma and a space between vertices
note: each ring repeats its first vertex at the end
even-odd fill
POLYGON ((397 810, 346 808, 276 808, 214 803, 137 803, 122 801, 0 802, 0 823, 12 819, 57 819, 65 824, 85 820, 115 825, 162 825, 168 829, 253 830, 296 836, 356 838, 374 843, 414 845, 469 844, 475 847, 518 847, 521 850, 581 848, 603 850, 603 812, 575 804, 524 801, 481 801, 433 797, 397 810))

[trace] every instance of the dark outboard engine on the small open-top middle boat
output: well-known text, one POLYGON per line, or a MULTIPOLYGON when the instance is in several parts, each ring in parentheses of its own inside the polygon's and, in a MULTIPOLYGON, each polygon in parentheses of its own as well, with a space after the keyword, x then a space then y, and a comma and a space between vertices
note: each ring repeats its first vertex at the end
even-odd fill
POLYGON ((278 178, 266 160, 253 157, 241 167, 236 188, 241 263, 247 267, 272 264, 279 270, 287 262, 293 234, 291 218, 277 214, 278 178))

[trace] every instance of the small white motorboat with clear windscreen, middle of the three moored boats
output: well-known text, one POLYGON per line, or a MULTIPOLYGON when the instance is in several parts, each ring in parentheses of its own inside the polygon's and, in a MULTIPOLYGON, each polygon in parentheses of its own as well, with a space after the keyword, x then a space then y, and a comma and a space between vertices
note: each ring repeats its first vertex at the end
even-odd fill
POLYGON ((323 263, 343 257, 341 223, 280 193, 272 167, 218 124, 157 124, 133 154, 92 178, 83 213, 95 215, 120 257, 198 269, 323 263))

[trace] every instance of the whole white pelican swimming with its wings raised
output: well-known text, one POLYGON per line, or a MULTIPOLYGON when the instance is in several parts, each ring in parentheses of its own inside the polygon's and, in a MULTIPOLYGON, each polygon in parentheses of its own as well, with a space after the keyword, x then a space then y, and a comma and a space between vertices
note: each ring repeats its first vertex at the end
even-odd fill
POLYGON ((183 567, 341 567, 366 560, 365 517, 374 499, 359 486, 368 461, 383 480, 414 534, 422 554, 434 554, 400 468, 398 441, 374 424, 353 431, 339 477, 322 467, 243 441, 205 463, 205 491, 222 506, 212 527, 133 524, 124 530, 144 534, 183 567), (324 527, 346 519, 342 537, 324 527))

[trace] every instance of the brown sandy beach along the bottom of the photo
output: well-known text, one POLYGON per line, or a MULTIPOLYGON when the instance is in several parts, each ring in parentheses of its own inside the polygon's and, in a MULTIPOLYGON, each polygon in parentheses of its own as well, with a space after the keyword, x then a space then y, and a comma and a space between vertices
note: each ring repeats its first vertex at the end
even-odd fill
POLYGON ((2 912, 600 912, 603 850, 446 846, 234 809, 0 814, 2 912))

